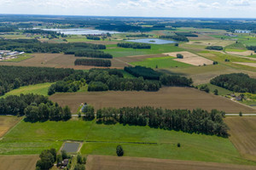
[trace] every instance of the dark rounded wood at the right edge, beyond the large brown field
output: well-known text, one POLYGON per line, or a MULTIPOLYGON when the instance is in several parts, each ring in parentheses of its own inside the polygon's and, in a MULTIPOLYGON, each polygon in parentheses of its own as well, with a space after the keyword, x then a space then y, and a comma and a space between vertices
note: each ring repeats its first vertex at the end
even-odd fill
POLYGON ((234 92, 256 94, 256 79, 243 73, 220 75, 213 78, 211 83, 234 92))

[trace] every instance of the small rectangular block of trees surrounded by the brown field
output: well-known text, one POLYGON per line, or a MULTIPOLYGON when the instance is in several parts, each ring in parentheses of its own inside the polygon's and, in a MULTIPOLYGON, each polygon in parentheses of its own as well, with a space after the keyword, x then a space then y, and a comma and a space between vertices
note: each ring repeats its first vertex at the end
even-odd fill
POLYGON ((110 67, 111 60, 109 59, 76 59, 75 65, 90 65, 90 66, 103 66, 110 67))

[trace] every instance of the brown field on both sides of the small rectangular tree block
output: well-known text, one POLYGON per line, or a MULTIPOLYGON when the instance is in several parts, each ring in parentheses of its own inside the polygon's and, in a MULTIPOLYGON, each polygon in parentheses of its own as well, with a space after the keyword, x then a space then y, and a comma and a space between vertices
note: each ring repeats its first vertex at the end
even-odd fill
MULTIPOLYGON (((89 70, 94 66, 74 65, 74 55, 67 54, 32 54, 31 59, 26 59, 20 62, 0 62, 0 65, 20 65, 20 66, 37 66, 37 67, 55 67, 55 68, 73 68, 76 70, 89 70)), ((110 59, 112 68, 124 68, 127 64, 117 59, 110 59)))

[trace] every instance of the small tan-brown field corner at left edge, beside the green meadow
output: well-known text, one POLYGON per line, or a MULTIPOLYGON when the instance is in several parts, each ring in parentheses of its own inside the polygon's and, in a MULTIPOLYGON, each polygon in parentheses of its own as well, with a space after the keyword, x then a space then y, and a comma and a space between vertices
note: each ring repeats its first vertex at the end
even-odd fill
POLYGON ((0 138, 14 127, 16 123, 20 122, 21 118, 17 116, 0 116, 0 138))

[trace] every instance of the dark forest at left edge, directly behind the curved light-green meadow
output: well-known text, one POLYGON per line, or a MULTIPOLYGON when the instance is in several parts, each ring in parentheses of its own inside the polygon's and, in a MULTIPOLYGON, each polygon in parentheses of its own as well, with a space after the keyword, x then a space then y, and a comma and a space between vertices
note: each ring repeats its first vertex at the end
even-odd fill
POLYGON ((0 66, 0 95, 21 86, 60 81, 73 73, 73 69, 2 65, 0 66))

